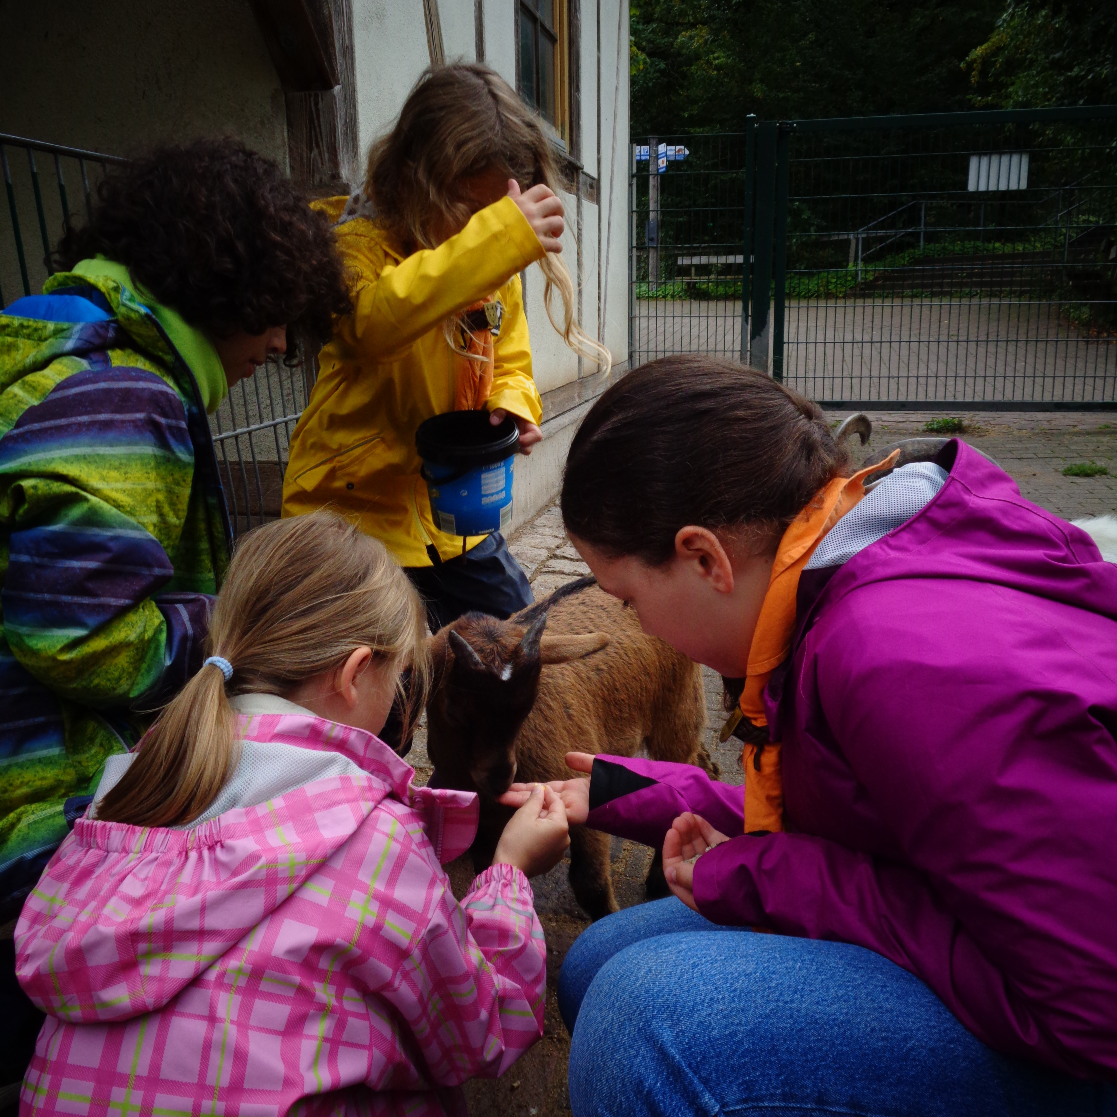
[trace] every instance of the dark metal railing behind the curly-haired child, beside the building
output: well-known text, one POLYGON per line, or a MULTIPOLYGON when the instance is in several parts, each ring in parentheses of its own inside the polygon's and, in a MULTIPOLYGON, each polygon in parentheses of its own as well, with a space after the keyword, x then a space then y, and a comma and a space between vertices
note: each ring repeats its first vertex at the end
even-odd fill
MULTIPOLYGON (((105 171, 125 160, 0 134, 7 221, 0 218, 0 306, 38 294, 52 271, 50 250, 88 214, 105 171), (79 185, 79 193, 75 191, 79 185)), ((269 361, 235 384, 210 416, 236 532, 279 515, 292 431, 314 386, 314 361, 269 361)))

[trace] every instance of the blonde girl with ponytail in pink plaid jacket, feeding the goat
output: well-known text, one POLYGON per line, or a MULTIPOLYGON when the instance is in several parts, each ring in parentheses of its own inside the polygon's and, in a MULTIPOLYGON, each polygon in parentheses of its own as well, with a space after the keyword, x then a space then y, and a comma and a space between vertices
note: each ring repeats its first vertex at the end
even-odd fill
POLYGON ((527 877, 569 844, 565 811, 537 787, 454 898, 441 865, 472 842, 477 798, 417 787, 378 737, 404 667, 426 689, 426 639, 407 576, 341 517, 241 542, 204 666, 108 760, 16 928, 47 1013, 23 1087, 37 1113, 74 1091, 98 1113, 125 1095, 141 1111, 456 1113, 466 1078, 535 1042, 527 877))

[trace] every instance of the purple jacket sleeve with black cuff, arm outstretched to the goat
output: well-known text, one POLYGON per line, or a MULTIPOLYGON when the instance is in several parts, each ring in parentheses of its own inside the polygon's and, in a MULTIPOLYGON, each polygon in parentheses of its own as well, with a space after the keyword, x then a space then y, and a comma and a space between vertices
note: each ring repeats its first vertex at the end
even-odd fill
POLYGON ((599 755, 590 777, 586 825, 660 849, 685 811, 724 834, 745 825, 744 787, 719 783, 693 764, 599 755))

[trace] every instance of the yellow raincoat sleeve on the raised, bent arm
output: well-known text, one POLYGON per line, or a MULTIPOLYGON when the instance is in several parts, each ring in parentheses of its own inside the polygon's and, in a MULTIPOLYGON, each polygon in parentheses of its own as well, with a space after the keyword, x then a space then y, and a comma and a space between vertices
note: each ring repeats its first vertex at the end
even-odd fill
POLYGON ((362 277, 345 341, 366 359, 390 357, 544 255, 519 207, 502 198, 438 248, 399 262, 389 256, 378 276, 362 277))

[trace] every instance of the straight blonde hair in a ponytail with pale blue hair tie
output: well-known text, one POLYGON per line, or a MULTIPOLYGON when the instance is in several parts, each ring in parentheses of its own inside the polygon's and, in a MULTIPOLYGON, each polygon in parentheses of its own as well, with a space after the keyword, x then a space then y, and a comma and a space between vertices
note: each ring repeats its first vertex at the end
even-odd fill
POLYGON ((198 671, 145 734, 97 818, 141 827, 192 822, 239 760, 229 696, 286 696, 340 670, 361 647, 372 648, 374 662, 411 667, 404 706, 421 708, 429 681, 422 603, 383 544, 328 512, 249 533, 207 638, 207 655, 227 659, 232 678, 227 684, 214 665, 198 671))

